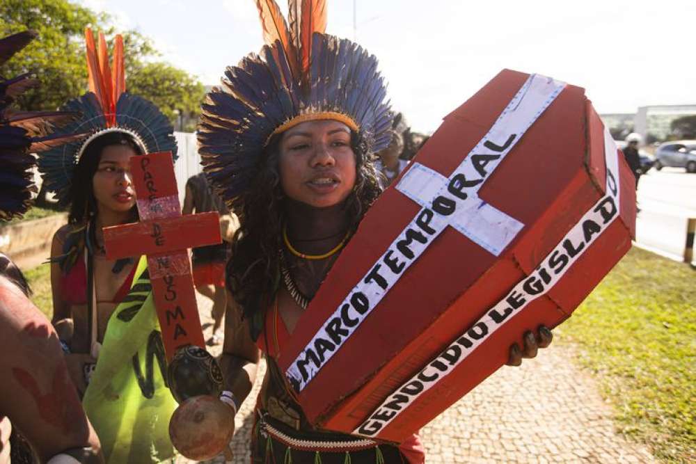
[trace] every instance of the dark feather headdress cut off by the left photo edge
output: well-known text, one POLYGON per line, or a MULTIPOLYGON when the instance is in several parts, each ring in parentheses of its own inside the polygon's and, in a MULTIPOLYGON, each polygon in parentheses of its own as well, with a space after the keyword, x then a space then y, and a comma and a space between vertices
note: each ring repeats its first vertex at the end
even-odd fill
MULTIPOLYGON (((0 40, 0 65, 36 38, 33 31, 9 35, 0 40)), ((52 134, 56 125, 76 118, 74 111, 17 111, 10 105, 25 90, 38 86, 31 73, 12 79, 0 77, 0 220, 22 216, 31 206, 36 190, 32 168, 36 160, 31 153, 49 150, 63 143, 84 138, 85 134, 62 131, 52 134)))

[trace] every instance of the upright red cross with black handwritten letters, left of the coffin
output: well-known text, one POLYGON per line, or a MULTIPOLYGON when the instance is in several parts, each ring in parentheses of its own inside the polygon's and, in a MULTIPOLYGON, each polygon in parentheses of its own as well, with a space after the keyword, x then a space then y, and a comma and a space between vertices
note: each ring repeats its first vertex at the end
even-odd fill
POLYGON ((140 222, 104 227, 106 259, 147 255, 167 360, 205 349, 187 248, 221 243, 216 212, 182 216, 171 152, 131 157, 140 222))

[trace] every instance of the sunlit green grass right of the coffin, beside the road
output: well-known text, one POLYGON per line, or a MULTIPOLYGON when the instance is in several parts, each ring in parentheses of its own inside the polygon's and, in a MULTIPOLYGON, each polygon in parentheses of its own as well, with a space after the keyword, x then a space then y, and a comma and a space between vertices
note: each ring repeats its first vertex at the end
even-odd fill
POLYGON ((696 271, 633 248, 557 331, 622 433, 663 461, 696 460, 696 271))

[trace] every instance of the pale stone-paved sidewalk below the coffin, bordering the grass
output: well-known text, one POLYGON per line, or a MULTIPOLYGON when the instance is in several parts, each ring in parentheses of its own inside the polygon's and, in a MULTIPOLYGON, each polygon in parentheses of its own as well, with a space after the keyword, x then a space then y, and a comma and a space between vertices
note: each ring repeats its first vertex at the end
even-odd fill
MULTIPOLYGON (((201 319, 210 303, 199 298, 201 319)), ((205 330, 206 339, 211 335, 205 330)), ((219 353, 220 346, 211 351, 219 353)), ((574 365, 568 346, 551 344, 521 367, 503 367, 422 429, 427 463, 653 463, 646 447, 617 435, 598 386, 574 365)), ((252 408, 260 376, 235 419, 234 463, 249 462, 252 408)), ((224 463, 223 458, 207 461, 224 463)), ((182 460, 180 463, 193 463, 182 460)))

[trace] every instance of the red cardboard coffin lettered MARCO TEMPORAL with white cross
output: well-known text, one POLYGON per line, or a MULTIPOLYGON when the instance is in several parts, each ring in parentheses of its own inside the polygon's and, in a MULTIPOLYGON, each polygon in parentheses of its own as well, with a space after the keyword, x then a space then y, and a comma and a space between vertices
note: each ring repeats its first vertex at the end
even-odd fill
POLYGON ((504 70, 445 118, 301 317, 279 365, 317 426, 403 441, 502 366, 525 331, 567 319, 631 247, 635 179, 582 88, 562 87, 521 135, 491 129, 526 98, 528 79, 504 70), (472 152, 484 145, 493 151, 472 152), (471 166, 457 177, 465 162, 481 179, 471 166), (454 221, 445 218, 450 200, 425 192, 430 203, 419 205, 400 190, 416 171, 449 178, 445 196, 462 200, 458 208, 477 206, 454 221), (478 190, 467 198, 469 186, 478 190), (512 218, 501 226, 512 239, 498 250, 485 230, 476 239, 471 221, 491 208, 512 218), (465 232, 448 226, 428 237, 439 219, 465 232), (397 246, 399 237, 408 240, 397 246), (366 282, 388 287, 377 304, 359 293, 366 282))

